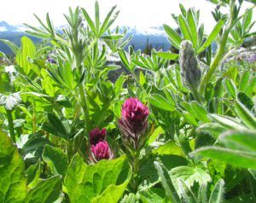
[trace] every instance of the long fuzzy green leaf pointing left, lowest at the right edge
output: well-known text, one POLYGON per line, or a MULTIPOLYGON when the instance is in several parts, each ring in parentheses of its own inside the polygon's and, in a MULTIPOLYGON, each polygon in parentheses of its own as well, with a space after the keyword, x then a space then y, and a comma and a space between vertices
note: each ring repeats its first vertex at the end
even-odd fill
POLYGON ((206 147, 196 149, 191 155, 218 159, 226 164, 241 168, 256 169, 256 153, 233 150, 230 148, 206 147))

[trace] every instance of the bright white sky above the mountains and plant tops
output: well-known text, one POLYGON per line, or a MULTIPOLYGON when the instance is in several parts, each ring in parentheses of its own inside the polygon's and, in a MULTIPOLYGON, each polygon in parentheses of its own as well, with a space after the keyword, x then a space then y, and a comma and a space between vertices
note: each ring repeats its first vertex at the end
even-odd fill
MULTIPOLYGON (((65 24, 63 13, 67 13, 68 7, 84 7, 93 14, 94 0, 7 0, 1 3, 0 20, 11 24, 22 23, 36 24, 33 13, 44 17, 49 12, 55 26, 65 24)), ((207 31, 212 30, 214 20, 211 10, 212 3, 207 0, 99 0, 102 17, 108 10, 117 4, 120 10, 116 24, 120 26, 161 26, 163 23, 173 26, 171 14, 178 14, 179 3, 186 8, 195 7, 201 9, 201 20, 205 22, 207 31)), ((250 6, 244 3, 243 10, 250 6)), ((254 11, 256 13, 256 10, 254 11)), ((256 15, 254 14, 254 19, 256 15)))

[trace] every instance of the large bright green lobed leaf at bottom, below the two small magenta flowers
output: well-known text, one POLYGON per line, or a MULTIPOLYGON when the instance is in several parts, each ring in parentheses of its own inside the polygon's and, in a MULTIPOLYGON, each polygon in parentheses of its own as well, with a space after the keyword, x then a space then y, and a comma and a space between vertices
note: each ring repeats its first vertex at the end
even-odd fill
POLYGON ((69 200, 84 203, 117 202, 130 180, 129 169, 125 156, 86 165, 83 158, 75 154, 64 179, 69 200))

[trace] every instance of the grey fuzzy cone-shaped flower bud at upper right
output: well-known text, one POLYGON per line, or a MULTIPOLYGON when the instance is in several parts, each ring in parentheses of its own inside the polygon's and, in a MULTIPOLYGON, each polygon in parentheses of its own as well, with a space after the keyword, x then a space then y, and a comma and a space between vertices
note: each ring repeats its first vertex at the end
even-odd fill
POLYGON ((183 83, 192 90, 196 89, 201 81, 201 70, 198 66, 193 44, 189 40, 184 40, 180 45, 179 65, 183 83))

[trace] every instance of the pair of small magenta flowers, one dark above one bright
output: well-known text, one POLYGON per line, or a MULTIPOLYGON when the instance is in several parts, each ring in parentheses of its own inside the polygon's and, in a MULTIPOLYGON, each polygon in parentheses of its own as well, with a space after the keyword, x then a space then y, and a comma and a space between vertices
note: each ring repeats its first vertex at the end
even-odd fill
POLYGON ((108 146, 108 142, 105 141, 107 131, 105 128, 99 130, 98 128, 90 131, 90 151, 94 156, 94 160, 111 159, 113 154, 108 146))

